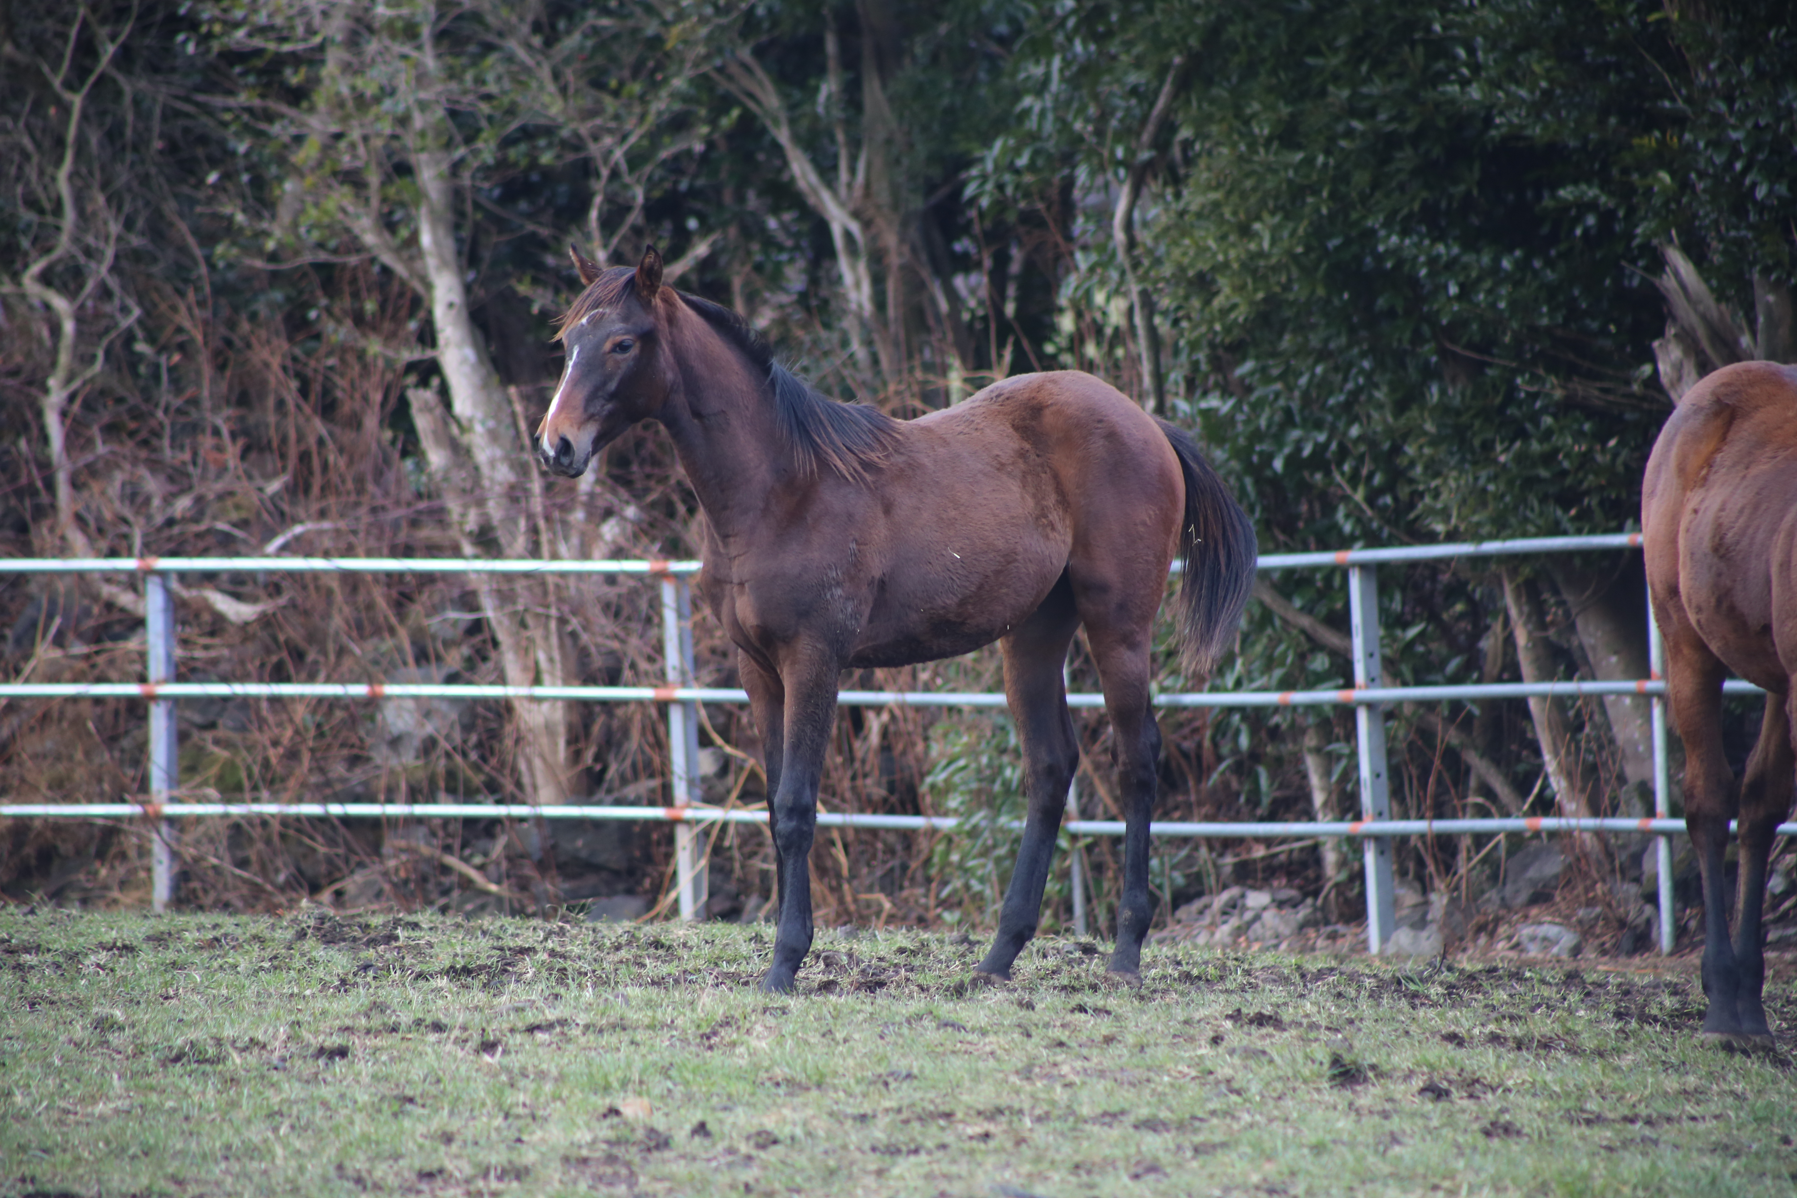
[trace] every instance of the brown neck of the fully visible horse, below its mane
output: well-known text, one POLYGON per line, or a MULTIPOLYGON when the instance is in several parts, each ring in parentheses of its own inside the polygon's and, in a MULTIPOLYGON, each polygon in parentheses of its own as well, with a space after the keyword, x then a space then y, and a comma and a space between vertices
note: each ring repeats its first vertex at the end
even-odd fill
POLYGON ((676 377, 661 424, 712 530, 724 541, 755 521, 791 472, 766 375, 704 318, 668 322, 676 377))

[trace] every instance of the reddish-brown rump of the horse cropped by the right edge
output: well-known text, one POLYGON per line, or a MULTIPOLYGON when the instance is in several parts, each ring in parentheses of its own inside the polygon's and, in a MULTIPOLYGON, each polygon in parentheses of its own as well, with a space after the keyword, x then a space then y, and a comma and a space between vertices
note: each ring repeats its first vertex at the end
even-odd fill
POLYGON ((1797 674, 1797 370, 1738 363, 1691 388, 1648 458, 1641 526, 1668 636, 1686 620, 1736 674, 1784 690, 1797 674))

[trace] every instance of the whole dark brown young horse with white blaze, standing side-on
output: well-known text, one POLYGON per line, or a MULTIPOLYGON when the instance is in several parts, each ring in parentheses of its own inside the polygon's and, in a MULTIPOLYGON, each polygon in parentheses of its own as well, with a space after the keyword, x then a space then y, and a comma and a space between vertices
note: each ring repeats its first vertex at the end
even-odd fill
POLYGON ((1062 663, 1084 623, 1125 805, 1111 970, 1139 981, 1148 812, 1161 733, 1148 697, 1154 614, 1184 553, 1181 630, 1208 675, 1254 575, 1254 530, 1191 440, 1098 379, 1031 374, 918 420, 825 399, 735 313, 573 255, 568 366, 537 433, 570 478, 638 420, 674 438, 704 508, 699 591, 739 650, 766 745, 780 923, 762 981, 791 990, 810 948, 807 857, 818 778, 850 666, 952 657, 999 641, 1028 817, 985 981, 1035 934, 1078 763, 1062 663))

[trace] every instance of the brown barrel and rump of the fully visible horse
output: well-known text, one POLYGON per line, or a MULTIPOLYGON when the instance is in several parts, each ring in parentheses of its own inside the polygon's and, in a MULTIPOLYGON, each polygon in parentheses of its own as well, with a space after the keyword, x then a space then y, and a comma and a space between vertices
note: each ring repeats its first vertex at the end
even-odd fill
POLYGON ((1182 503, 1154 418, 1093 375, 1053 372, 906 422, 888 462, 819 492, 805 524, 855 539, 868 614, 852 661, 900 665, 1005 636, 1064 573, 1076 602, 1152 620, 1182 503))

